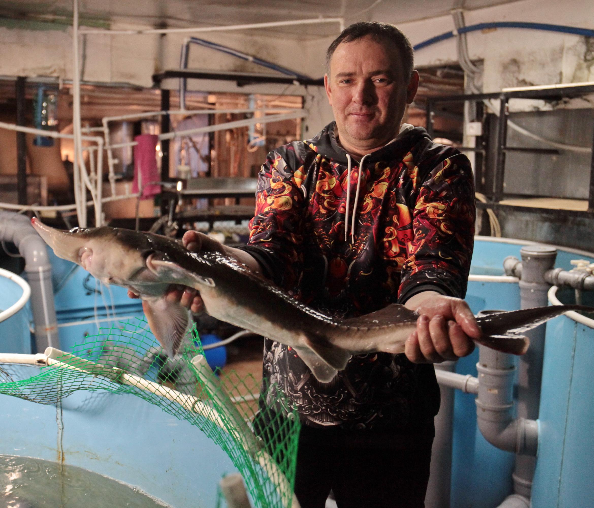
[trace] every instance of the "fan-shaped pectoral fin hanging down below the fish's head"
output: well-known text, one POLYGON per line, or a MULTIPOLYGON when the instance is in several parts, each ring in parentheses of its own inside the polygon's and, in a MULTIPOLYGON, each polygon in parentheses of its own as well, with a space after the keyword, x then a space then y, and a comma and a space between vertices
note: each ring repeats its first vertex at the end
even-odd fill
POLYGON ((164 296, 143 299, 143 310, 151 331, 169 356, 179 351, 182 339, 192 322, 187 308, 179 302, 171 302, 164 296))

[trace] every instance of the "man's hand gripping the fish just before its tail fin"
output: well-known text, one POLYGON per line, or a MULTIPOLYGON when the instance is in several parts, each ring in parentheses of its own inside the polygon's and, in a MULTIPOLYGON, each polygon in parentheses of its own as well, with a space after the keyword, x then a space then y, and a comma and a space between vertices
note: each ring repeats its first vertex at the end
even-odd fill
POLYGON ((405 354, 416 363, 457 360, 475 349, 481 335, 468 304, 460 298, 424 291, 412 296, 406 308, 416 311, 416 330, 406 339, 405 354))

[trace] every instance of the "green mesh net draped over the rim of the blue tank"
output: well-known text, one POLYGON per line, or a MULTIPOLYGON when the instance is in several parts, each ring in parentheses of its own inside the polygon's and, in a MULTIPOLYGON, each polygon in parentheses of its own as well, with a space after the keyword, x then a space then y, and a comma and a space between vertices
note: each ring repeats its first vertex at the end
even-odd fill
MULTIPOLYGON (((144 319, 87 336, 71 353, 48 348, 39 374, 15 380, 0 365, 0 393, 54 404, 76 390, 131 393, 198 427, 232 460, 258 508, 295 507, 299 419, 272 384, 251 375, 213 373, 192 329, 175 358, 166 358, 144 319), (258 404, 258 397, 266 404, 258 404), (258 437, 256 434, 258 434, 258 437)), ((213 486, 214 487, 214 486, 213 486)))

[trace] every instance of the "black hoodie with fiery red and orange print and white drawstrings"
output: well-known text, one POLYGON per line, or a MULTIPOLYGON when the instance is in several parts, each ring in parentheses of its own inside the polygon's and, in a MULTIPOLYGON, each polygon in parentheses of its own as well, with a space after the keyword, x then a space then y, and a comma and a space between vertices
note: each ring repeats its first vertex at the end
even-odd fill
MULTIPOLYGON (((463 297, 475 220, 466 156, 404 124, 357 162, 334 128, 268 154, 244 250, 296 299, 342 317, 429 289, 463 297)), ((406 430, 439 409, 433 366, 405 355, 355 355, 320 383, 289 346, 266 339, 264 378, 314 427, 406 430)))

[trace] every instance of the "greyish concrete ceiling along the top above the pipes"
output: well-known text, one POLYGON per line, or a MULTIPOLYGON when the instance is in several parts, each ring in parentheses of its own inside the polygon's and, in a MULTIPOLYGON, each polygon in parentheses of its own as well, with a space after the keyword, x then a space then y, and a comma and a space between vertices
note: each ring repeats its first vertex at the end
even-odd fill
MULTIPOLYGON (((304 18, 345 17, 381 21, 397 12, 400 23, 447 14, 452 8, 475 10, 517 0, 79 0, 81 24, 108 27, 110 22, 153 27, 220 26, 304 18), (365 11, 365 12, 362 12, 365 11)), ((72 0, 0 0, 0 18, 70 24, 72 0)), ((3 23, 6 24, 6 23, 3 23)), ((293 37, 337 33, 334 24, 267 30, 293 37)), ((260 31, 261 34, 266 32, 260 31)))

